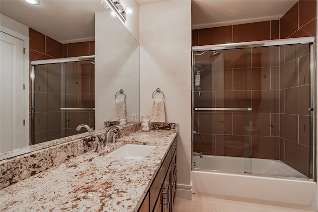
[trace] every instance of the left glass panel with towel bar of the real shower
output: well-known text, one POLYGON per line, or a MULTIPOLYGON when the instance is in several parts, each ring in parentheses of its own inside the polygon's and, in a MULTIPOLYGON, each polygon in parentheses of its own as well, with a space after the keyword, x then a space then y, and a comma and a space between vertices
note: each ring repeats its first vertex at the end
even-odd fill
POLYGON ((193 149, 213 155, 204 169, 251 172, 250 52, 195 53, 193 74, 199 72, 200 83, 194 81, 193 149))

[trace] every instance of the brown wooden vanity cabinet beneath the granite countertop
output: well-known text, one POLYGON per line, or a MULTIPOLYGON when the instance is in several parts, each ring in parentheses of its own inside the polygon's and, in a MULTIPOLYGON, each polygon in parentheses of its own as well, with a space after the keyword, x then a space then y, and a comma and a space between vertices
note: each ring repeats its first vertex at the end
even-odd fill
POLYGON ((149 202, 147 212, 172 212, 176 193, 176 139, 169 147, 160 169, 139 208, 139 212, 145 211, 145 201, 149 202))

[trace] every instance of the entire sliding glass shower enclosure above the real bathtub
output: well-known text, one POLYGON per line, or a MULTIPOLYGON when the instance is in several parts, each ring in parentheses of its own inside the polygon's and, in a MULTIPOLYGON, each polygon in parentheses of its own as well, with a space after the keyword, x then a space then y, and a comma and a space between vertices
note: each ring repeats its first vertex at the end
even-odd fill
POLYGON ((193 151, 213 156, 203 169, 313 179, 312 42, 196 48, 193 151))

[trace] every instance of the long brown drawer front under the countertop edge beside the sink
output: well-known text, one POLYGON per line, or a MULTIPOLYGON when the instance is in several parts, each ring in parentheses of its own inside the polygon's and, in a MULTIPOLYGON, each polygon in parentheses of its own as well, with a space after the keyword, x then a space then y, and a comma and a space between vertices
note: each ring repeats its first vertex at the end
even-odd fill
POLYGON ((169 149, 159 171, 158 174, 150 188, 150 211, 153 210, 157 198, 159 196, 160 190, 161 190, 161 186, 162 186, 162 182, 164 181, 165 175, 168 171, 169 165, 171 163, 171 152, 172 152, 172 148, 169 149))

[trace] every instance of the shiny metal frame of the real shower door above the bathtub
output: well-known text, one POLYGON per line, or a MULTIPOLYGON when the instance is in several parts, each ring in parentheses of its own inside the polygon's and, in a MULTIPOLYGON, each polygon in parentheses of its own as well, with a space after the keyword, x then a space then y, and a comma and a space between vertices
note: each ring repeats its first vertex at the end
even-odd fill
MULTIPOLYGON (((301 38, 286 38, 286 39, 277 39, 277 40, 265 40, 265 41, 251 41, 251 42, 240 42, 240 43, 227 43, 227 44, 216 44, 216 45, 204 45, 204 46, 193 46, 192 47, 192 157, 193 157, 193 112, 194 108, 194 59, 195 59, 195 52, 204 52, 204 51, 216 51, 216 50, 230 50, 230 49, 246 49, 246 48, 254 48, 254 47, 273 47, 273 46, 284 46, 284 45, 297 45, 297 44, 309 44, 310 45, 310 77, 311 77, 311 85, 310 85, 310 179, 315 179, 315 138, 314 138, 314 129, 315 129, 315 122, 314 122, 314 107, 315 107, 315 47, 314 42, 315 37, 301 37, 301 38)), ((207 108, 203 108, 207 109, 207 108)), ((224 108, 225 109, 225 108, 224 108)), ((233 108, 232 108, 233 109, 233 108)), ((252 108, 246 108, 252 110, 252 108)), ((217 108, 216 108, 217 110, 217 108)), ((252 159, 252 158, 247 158, 252 159)), ((193 161, 193 159, 192 159, 193 161)), ((246 161, 245 161, 246 162, 246 161)), ((193 162, 192 162, 193 164, 193 162)))

